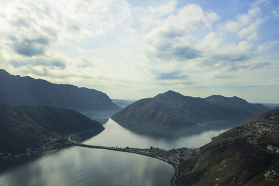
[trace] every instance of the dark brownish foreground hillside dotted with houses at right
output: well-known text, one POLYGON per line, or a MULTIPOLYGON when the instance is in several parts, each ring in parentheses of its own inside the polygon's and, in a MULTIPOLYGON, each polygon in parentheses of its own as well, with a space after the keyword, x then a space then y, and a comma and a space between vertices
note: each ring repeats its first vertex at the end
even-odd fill
POLYGON ((234 127, 179 165, 177 185, 279 185, 279 109, 234 127))

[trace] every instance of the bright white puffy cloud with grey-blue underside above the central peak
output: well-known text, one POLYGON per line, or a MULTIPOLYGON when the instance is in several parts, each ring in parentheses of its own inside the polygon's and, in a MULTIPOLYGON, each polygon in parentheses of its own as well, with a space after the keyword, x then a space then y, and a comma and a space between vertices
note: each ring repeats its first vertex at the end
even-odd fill
POLYGON ((189 34, 197 29, 211 27, 216 20, 216 13, 206 13, 198 5, 184 6, 176 15, 170 15, 163 24, 146 35, 146 42, 153 47, 149 56, 179 61, 199 57, 201 52, 192 46, 195 39, 189 34))

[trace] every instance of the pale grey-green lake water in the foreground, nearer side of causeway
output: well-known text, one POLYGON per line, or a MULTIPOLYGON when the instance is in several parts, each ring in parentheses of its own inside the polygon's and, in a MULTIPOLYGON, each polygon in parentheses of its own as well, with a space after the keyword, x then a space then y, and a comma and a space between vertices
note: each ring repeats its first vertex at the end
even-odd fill
POLYGON ((174 169, 142 155, 72 147, 0 174, 0 185, 169 185, 174 169))

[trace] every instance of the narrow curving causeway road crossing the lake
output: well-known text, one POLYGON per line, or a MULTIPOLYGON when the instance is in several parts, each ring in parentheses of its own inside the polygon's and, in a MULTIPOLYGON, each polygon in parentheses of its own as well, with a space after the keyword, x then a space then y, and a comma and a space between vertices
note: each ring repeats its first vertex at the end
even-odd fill
MULTIPOLYGON (((80 132, 80 133, 82 133, 82 132, 80 132)), ((78 134, 80 134, 80 133, 78 133, 78 134)), ((174 162, 174 160, 170 159, 169 157, 164 157, 164 156, 156 155, 154 153, 146 152, 140 148, 116 148, 116 147, 93 146, 93 145, 87 145, 87 144, 80 144, 80 143, 72 140, 72 137, 75 135, 77 135, 77 134, 72 134, 68 137, 68 141, 70 141, 70 143, 75 146, 82 146, 82 147, 86 147, 86 148, 99 148, 99 149, 105 149, 105 150, 115 150, 115 151, 121 151, 121 152, 126 152, 126 153, 134 153, 134 154, 138 154, 138 155, 146 155, 146 156, 154 157, 158 160, 167 162, 168 164, 171 164, 172 167, 174 167, 175 172, 174 172, 174 176, 172 176, 170 185, 176 186, 175 180, 176 180, 177 173, 179 171, 179 168, 178 168, 179 164, 177 162, 174 162)))

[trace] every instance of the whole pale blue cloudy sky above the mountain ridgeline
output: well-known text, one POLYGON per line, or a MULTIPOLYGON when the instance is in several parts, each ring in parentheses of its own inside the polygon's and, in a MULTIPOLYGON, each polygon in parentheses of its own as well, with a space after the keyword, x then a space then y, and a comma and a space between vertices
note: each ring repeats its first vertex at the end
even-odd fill
POLYGON ((279 103, 279 1, 0 0, 0 68, 110 98, 279 103))

